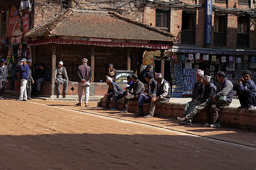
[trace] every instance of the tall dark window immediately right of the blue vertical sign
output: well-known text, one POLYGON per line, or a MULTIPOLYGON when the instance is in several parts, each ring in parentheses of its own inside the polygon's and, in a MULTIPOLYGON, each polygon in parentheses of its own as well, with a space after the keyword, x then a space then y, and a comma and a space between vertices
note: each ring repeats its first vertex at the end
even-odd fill
POLYGON ((226 46, 227 15, 214 15, 213 45, 226 46))

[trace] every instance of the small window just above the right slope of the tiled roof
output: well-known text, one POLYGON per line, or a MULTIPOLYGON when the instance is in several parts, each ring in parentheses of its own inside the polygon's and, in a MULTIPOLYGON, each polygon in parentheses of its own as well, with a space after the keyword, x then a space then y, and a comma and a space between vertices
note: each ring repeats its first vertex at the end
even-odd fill
POLYGON ((169 11, 156 10, 156 27, 162 30, 169 30, 169 11))

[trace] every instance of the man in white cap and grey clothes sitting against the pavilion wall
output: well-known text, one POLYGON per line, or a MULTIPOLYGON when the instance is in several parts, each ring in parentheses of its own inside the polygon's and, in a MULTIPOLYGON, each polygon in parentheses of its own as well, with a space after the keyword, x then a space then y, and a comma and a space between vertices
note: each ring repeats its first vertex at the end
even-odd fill
POLYGON ((58 66, 55 69, 55 83, 58 88, 57 98, 59 98, 59 95, 61 94, 60 84, 63 84, 62 98, 65 98, 68 92, 68 83, 71 83, 71 81, 68 80, 68 74, 66 68, 63 67, 62 61, 58 63, 58 66))

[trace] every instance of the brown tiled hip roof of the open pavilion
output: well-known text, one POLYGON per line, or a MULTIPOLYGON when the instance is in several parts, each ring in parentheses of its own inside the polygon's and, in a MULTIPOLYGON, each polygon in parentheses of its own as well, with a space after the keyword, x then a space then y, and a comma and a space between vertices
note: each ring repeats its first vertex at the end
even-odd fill
POLYGON ((63 15, 39 24, 35 29, 29 31, 26 37, 43 36, 46 32, 53 36, 175 41, 174 36, 169 32, 132 21, 113 12, 68 10, 63 15))

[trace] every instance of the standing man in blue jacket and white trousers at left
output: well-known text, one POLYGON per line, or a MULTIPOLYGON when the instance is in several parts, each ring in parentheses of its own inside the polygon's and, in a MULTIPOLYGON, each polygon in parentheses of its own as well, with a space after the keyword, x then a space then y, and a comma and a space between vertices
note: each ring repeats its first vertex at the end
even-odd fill
POLYGON ((28 82, 28 73, 29 73, 29 66, 27 64, 27 59, 22 58, 20 61, 20 98, 18 101, 27 101, 27 82, 28 82))

